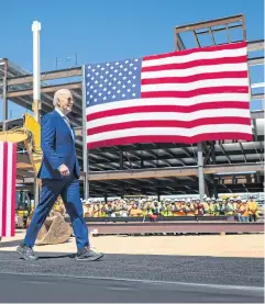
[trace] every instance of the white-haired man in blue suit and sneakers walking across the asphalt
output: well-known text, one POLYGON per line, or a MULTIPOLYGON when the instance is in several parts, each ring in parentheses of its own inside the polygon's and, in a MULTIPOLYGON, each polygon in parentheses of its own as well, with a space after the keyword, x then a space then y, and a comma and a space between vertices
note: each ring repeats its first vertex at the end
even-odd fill
POLYGON ((55 110, 42 119, 43 159, 37 174, 42 179, 40 204, 34 211, 24 241, 16 249, 26 260, 37 259, 32 248, 58 195, 62 195, 76 236, 76 259, 98 260, 103 256, 90 249, 88 228, 82 217, 78 180, 80 168, 75 149, 75 134, 67 117, 73 104, 71 92, 60 89, 54 95, 55 110))

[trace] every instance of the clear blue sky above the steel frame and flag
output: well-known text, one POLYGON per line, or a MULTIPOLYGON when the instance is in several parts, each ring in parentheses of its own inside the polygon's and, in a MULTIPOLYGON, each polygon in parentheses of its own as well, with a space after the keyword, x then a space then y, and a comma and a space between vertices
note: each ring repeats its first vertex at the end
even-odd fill
MULTIPOLYGON (((263 0, 3 0, 0 57, 32 72, 34 20, 42 23, 41 71, 47 71, 71 67, 76 58, 82 65, 172 52, 174 26, 240 13, 247 41, 263 40, 263 0)), ((252 74, 264 81, 262 67, 252 74)), ((13 104, 9 110, 12 119, 24 112, 13 104)))

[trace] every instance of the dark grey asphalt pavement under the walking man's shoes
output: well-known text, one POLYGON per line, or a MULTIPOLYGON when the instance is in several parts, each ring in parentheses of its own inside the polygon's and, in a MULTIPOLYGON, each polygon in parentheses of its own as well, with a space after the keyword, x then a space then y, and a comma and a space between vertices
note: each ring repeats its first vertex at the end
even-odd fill
POLYGON ((264 303, 264 260, 184 256, 0 251, 0 301, 8 303, 264 303))

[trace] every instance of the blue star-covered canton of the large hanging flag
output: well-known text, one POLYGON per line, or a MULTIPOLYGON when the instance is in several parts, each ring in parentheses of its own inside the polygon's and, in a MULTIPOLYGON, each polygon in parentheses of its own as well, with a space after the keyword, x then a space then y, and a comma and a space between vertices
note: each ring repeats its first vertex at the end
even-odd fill
POLYGON ((142 59, 86 66, 86 104, 141 98, 142 59))

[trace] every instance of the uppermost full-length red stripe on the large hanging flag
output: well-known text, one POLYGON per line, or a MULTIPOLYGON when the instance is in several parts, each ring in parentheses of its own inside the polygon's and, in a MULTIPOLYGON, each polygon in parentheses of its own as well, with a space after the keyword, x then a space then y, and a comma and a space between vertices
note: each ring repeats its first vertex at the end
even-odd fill
POLYGON ((203 102, 192 105, 139 105, 121 109, 111 109, 101 112, 87 114, 87 122, 133 113, 151 113, 151 112, 179 112, 179 113, 192 113, 202 110, 213 109, 250 109, 249 102, 241 101, 220 101, 220 102, 203 102))

